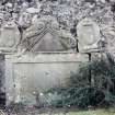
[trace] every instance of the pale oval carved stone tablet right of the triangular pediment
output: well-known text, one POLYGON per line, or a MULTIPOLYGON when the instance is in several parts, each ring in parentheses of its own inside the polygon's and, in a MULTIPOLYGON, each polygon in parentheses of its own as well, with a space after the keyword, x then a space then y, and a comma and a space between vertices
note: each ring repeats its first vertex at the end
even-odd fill
POLYGON ((90 19, 84 19, 78 24, 78 41, 80 51, 97 50, 100 41, 100 28, 90 19))

